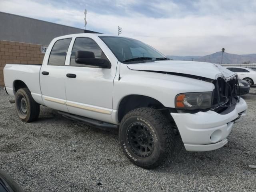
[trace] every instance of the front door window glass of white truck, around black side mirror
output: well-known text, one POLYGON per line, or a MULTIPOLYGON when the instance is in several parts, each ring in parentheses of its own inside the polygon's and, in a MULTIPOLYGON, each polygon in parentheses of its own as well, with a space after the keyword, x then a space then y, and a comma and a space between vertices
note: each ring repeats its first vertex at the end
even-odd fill
POLYGON ((72 49, 72 54, 71 54, 71 58, 70 58, 70 66, 92 67, 89 65, 77 64, 75 61, 76 51, 94 52, 95 58, 107 59, 105 54, 102 52, 102 50, 100 49, 100 47, 94 40, 92 40, 90 38, 85 38, 85 37, 78 37, 78 38, 76 38, 76 40, 74 42, 73 49, 72 49))

